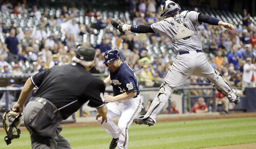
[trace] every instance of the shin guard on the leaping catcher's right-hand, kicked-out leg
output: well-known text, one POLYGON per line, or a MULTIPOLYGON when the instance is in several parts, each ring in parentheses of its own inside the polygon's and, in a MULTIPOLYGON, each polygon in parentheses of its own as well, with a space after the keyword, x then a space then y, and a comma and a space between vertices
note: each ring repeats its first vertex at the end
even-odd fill
POLYGON ((227 99, 229 99, 230 103, 239 104, 240 99, 237 92, 231 88, 231 86, 229 85, 229 82, 227 82, 227 80, 220 74, 220 72, 218 72, 215 69, 214 71, 216 73, 216 76, 214 76, 213 80, 209 80, 213 82, 214 84, 213 87, 216 86, 216 89, 219 92, 227 96, 227 99))

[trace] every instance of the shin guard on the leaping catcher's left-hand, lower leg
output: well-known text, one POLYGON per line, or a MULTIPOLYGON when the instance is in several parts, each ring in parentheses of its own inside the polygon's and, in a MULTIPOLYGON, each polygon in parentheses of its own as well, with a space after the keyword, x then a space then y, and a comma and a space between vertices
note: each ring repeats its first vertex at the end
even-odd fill
POLYGON ((162 85, 160 86, 159 93, 152 101, 147 113, 144 115, 144 118, 152 116, 151 118, 156 122, 157 115, 164 109, 170 96, 170 87, 166 83, 162 83, 162 85))

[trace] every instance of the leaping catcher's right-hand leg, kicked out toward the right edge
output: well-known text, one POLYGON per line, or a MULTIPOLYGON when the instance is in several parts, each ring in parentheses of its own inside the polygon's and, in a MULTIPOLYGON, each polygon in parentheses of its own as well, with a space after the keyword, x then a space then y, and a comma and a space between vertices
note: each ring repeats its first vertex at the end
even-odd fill
POLYGON ((207 78, 209 81, 213 82, 216 89, 226 95, 230 103, 238 104, 240 102, 237 92, 231 88, 220 72, 212 68, 203 53, 198 55, 196 69, 193 75, 207 78))

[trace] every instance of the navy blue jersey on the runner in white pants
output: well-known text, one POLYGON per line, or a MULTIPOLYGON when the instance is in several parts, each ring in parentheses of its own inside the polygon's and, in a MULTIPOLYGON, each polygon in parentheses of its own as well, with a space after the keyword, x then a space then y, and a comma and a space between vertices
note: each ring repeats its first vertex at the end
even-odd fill
POLYGON ((110 84, 113 86, 114 96, 131 91, 136 91, 136 96, 139 95, 136 75, 123 61, 115 72, 110 71, 110 84))

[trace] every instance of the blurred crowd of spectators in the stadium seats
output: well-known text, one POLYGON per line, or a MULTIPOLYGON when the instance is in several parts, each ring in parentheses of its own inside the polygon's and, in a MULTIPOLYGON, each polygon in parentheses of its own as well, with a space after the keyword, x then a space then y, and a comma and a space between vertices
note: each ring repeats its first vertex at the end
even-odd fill
MULTIPOLYGON (((103 54, 109 49, 117 49, 121 59, 139 77, 140 85, 160 86, 174 61, 170 40, 158 33, 120 35, 111 25, 114 17, 125 17, 133 24, 152 24, 162 20, 159 6, 156 0, 131 1, 127 12, 118 16, 115 12, 101 12, 95 8, 88 11, 67 6, 54 9, 34 5, 30 8, 25 0, 16 5, 3 1, 0 72, 32 75, 55 65, 69 64, 77 48, 87 45, 96 49, 91 73, 108 75, 103 54)), ((241 16, 243 24, 236 24, 235 30, 205 23, 198 28, 203 51, 213 68, 221 72, 230 85, 243 90, 255 86, 256 28, 246 10, 241 16)), ((207 82, 194 77, 198 83, 207 82)))

